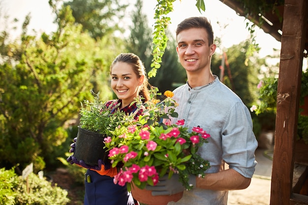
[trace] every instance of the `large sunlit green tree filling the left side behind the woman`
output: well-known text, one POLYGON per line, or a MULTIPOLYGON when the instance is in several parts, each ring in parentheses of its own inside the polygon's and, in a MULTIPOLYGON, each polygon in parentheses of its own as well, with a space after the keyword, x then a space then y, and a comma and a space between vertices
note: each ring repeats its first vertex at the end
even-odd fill
POLYGON ((51 35, 27 35, 28 19, 20 43, 0 34, 6 47, 0 56, 0 167, 34 162, 39 171, 45 161, 51 168, 67 138, 63 125, 77 117, 80 102, 91 99, 92 81, 101 81, 105 98, 111 95, 109 65, 123 42, 112 36, 96 42, 75 26, 69 7, 50 4, 59 26, 51 35))

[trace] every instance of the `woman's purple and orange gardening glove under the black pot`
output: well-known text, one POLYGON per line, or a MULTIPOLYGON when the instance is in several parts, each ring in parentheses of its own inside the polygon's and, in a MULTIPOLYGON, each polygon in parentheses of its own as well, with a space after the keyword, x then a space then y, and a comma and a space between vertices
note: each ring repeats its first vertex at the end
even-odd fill
MULTIPOLYGON (((70 146, 72 147, 69 152, 70 153, 74 153, 74 150, 75 150, 75 146, 76 146, 76 141, 77 141, 77 138, 74 138, 74 143, 72 143, 70 146)), ((114 177, 118 174, 118 170, 117 168, 112 168, 111 165, 108 163, 108 164, 105 164, 103 162, 103 160, 99 159, 97 161, 97 165, 88 165, 86 164, 83 160, 80 160, 78 161, 78 159, 76 157, 74 157, 74 155, 71 155, 70 157, 68 157, 67 159, 67 162, 69 162, 70 164, 76 164, 78 165, 79 167, 83 167, 83 168, 86 168, 86 169, 90 169, 92 171, 95 171, 97 172, 98 174, 100 175, 106 175, 106 176, 110 176, 110 177, 114 177)))

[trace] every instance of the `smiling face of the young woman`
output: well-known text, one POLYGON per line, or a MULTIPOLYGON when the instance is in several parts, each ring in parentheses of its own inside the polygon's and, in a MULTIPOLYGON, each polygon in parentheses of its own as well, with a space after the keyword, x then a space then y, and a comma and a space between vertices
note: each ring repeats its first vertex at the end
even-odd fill
POLYGON ((117 97, 122 100, 122 107, 129 105, 138 96, 139 86, 143 84, 144 77, 133 71, 131 64, 116 62, 111 70, 111 88, 117 97))

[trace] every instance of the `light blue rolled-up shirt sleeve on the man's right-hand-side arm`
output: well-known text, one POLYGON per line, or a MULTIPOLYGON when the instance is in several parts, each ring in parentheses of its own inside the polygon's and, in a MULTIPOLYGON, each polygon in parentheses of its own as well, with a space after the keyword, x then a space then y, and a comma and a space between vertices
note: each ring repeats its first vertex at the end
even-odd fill
POLYGON ((222 159, 229 168, 251 178, 257 165, 254 152, 258 143, 252 132, 250 113, 243 103, 236 103, 229 110, 221 140, 222 159))

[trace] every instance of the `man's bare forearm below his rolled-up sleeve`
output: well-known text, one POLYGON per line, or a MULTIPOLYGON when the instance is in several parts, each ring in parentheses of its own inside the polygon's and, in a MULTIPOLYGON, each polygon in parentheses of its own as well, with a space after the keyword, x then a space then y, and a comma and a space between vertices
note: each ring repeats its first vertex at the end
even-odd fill
POLYGON ((196 187, 211 190, 239 190, 246 189, 250 181, 250 178, 242 176, 234 169, 227 169, 206 174, 204 178, 196 177, 196 187))

